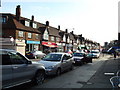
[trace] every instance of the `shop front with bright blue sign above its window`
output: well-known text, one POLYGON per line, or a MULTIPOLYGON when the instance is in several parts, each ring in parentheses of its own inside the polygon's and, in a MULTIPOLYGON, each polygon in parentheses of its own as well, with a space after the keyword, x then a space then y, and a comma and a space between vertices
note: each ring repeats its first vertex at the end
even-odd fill
POLYGON ((26 51, 37 51, 40 47, 40 41, 26 41, 26 51))

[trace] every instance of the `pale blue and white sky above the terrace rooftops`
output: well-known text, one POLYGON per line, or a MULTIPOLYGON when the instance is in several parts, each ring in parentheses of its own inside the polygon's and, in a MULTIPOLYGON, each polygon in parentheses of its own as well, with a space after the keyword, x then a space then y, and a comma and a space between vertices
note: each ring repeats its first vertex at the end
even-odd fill
POLYGON ((120 0, 2 0, 0 12, 15 14, 80 35, 104 45, 118 39, 118 1, 120 0))

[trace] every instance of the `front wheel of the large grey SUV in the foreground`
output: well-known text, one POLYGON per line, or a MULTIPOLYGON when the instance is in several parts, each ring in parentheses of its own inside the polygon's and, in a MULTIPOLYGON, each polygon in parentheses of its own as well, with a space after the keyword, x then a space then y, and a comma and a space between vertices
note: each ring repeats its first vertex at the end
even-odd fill
POLYGON ((41 85, 45 80, 45 72, 44 71, 38 71, 35 74, 35 77, 33 79, 33 83, 35 85, 41 85))

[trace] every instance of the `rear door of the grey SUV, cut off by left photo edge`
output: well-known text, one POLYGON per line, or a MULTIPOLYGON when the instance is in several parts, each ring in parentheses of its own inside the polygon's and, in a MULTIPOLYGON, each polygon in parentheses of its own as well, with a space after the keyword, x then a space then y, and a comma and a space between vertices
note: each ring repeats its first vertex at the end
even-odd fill
POLYGON ((2 78, 1 84, 2 88, 10 87, 13 85, 13 71, 10 61, 10 56, 7 53, 2 52, 0 55, 2 58, 2 65, 0 65, 0 78, 2 78))

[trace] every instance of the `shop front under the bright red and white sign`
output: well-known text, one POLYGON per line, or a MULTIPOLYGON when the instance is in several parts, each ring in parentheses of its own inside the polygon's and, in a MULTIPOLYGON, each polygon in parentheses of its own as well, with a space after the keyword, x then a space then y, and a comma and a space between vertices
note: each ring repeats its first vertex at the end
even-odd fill
POLYGON ((42 42, 43 46, 43 52, 44 53, 50 53, 50 52, 56 52, 58 45, 53 42, 42 42))

